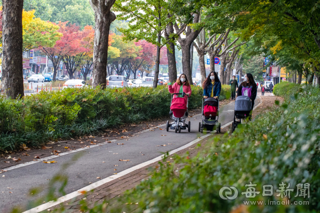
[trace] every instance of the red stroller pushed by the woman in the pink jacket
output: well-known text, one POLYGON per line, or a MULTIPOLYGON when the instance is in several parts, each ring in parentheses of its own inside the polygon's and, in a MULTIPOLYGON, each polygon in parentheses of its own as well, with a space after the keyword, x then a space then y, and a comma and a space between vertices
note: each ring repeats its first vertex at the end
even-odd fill
POLYGON ((170 107, 170 118, 173 122, 169 123, 166 121, 166 131, 170 129, 174 129, 174 132, 177 131, 180 133, 181 129, 184 130, 188 128, 188 132, 190 132, 190 121, 185 124, 185 119, 188 117, 188 101, 184 99, 185 93, 173 93, 171 95, 171 107, 170 107), (176 97, 173 98, 173 95, 182 95, 182 98, 176 97), (184 124, 184 125, 183 125, 184 124))

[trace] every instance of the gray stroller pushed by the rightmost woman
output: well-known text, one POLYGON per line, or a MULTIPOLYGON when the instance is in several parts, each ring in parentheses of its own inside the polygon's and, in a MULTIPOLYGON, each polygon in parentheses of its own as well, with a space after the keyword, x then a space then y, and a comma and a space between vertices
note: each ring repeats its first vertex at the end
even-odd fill
POLYGON ((248 96, 238 96, 234 102, 234 116, 231 132, 234 132, 238 124, 241 124, 241 119, 249 118, 251 120, 251 100, 248 96), (235 121, 235 119, 240 121, 235 121))

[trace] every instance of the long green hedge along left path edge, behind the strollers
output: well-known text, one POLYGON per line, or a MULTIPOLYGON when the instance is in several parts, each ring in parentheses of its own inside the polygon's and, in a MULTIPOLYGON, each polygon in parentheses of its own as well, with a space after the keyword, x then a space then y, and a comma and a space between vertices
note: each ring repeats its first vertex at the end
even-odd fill
MULTIPOLYGON (((192 86, 189 109, 201 106, 202 89, 192 86)), ((223 90, 223 92, 225 92, 223 90)), ((225 98, 224 93, 221 98, 225 98)), ((63 89, 24 96, 0 97, 0 151, 21 144, 40 146, 48 140, 96 134, 102 129, 168 115, 166 86, 115 89, 63 89)))

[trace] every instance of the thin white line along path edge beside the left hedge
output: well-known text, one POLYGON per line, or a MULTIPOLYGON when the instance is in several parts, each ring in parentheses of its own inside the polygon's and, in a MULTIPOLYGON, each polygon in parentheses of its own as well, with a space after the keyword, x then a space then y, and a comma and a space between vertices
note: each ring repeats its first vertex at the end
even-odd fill
MULTIPOLYGON (((193 115, 193 116, 198 116, 198 115, 201 115, 201 114, 197 114, 197 115, 193 115)), ((166 126, 166 124, 161 124, 161 125, 158 125, 156 127, 162 127, 162 126, 166 126)), ((144 132, 149 132, 150 130, 151 129, 146 129, 146 130, 134 133, 134 134, 142 134, 144 132)), ((117 139, 113 139, 113 140, 110 140, 110 141, 111 142, 116 142, 118 140, 117 139)), ((29 161, 29 162, 26 162, 26 163, 23 163, 23 164, 18 164, 18 165, 15 165, 15 166, 7 167, 7 168, 4 168, 3 170, 10 171, 10 170, 18 169, 18 168, 25 167, 25 166, 28 166, 28 165, 31 165, 31 164, 40 163, 42 161, 47 161, 47 160, 50 160, 50 159, 53 159, 53 158, 58 158, 58 157, 63 156, 63 155, 68 155, 68 154, 71 154, 71 153, 80 152, 80 151, 83 151, 83 150, 91 149, 91 148, 94 148, 94 147, 97 147, 97 146, 102 146, 102 145, 105 145, 105 144, 107 144, 107 142, 102 142, 102 143, 99 143, 99 144, 96 144, 96 145, 90 145, 89 147, 84 147, 84 148, 80 148, 80 149, 64 152, 64 153, 59 154, 58 156, 57 155, 51 155, 51 156, 48 156, 48 157, 45 157, 45 158, 41 158, 41 159, 39 159, 37 161, 29 161)))

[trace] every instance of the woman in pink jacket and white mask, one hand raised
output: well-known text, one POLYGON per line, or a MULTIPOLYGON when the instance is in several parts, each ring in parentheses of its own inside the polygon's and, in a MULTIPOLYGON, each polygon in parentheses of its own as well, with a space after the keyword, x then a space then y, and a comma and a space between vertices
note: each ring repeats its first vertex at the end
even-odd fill
MULTIPOLYGON (((191 87, 188 79, 184 74, 181 74, 180 77, 176 80, 176 82, 172 85, 172 83, 168 83, 169 93, 185 93, 184 99, 187 101, 187 98, 191 96, 191 87)), ((173 98, 177 97, 176 95, 173 98)), ((178 95, 178 97, 182 97, 182 95, 178 95)))

